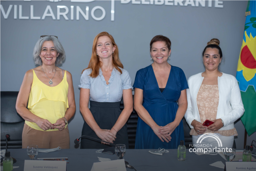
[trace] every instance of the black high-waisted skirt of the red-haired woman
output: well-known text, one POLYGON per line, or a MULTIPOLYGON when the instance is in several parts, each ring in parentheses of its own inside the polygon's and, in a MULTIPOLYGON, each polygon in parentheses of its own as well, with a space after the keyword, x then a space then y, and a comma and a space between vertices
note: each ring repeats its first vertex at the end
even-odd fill
MULTIPOLYGON (((90 101, 90 111, 101 129, 111 130, 121 114, 120 102, 90 101)), ((100 139, 86 122, 83 124, 82 135, 100 139)), ((126 124, 116 133, 114 144, 125 144, 126 149, 129 148, 126 124)), ((112 145, 101 144, 101 142, 97 140, 82 137, 80 148, 104 149, 111 146, 112 145)))

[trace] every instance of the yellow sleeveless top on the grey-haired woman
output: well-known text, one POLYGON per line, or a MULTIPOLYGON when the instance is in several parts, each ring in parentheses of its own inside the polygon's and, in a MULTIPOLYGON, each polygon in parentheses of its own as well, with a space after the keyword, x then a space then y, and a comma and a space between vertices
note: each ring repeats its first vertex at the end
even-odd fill
MULTIPOLYGON (((33 83, 28 99, 28 110, 54 124, 58 119, 65 116, 68 107, 66 71, 62 81, 57 86, 50 87, 41 82, 33 70, 33 83)), ((25 121, 25 123, 33 129, 44 131, 34 122, 25 121)), ((68 124, 65 128, 67 126, 68 124)), ((49 129, 46 131, 58 131, 58 129, 49 129)))

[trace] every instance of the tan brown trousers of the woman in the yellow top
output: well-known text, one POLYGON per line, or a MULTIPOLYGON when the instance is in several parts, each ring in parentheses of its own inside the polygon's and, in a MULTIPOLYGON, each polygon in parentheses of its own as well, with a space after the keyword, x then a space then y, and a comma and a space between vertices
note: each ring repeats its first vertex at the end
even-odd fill
POLYGON ((69 148, 68 126, 62 131, 39 131, 26 123, 22 132, 22 148, 28 145, 37 145, 38 148, 69 148))

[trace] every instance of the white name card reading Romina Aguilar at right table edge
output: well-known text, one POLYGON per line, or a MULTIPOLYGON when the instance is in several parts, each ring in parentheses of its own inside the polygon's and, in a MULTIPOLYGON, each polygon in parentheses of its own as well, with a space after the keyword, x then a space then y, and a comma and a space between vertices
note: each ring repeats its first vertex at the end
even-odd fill
POLYGON ((256 171, 256 162, 226 162, 225 171, 256 171))

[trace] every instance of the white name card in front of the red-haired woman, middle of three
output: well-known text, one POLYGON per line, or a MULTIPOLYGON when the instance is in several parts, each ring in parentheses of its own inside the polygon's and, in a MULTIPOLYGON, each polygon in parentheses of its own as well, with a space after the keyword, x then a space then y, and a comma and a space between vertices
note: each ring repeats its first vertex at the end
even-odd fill
POLYGON ((126 171, 124 159, 93 163, 91 171, 126 171))

